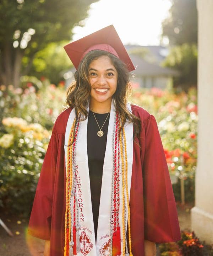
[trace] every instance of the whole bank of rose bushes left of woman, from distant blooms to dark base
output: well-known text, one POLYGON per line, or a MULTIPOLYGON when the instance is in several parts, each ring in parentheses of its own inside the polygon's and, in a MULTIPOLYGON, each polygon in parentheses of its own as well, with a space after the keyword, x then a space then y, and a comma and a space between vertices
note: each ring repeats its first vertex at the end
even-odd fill
POLYGON ((34 79, 0 86, 0 208, 29 215, 51 129, 63 108, 62 86, 34 79))

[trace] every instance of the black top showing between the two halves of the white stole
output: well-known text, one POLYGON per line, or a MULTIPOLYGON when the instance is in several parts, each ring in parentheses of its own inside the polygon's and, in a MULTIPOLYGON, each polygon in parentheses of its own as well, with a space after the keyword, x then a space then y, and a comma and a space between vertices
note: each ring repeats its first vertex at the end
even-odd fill
POLYGON ((98 121, 100 128, 105 122, 102 131, 104 135, 98 137, 97 132, 99 127, 95 121, 93 112, 89 110, 88 124, 87 124, 87 155, 88 155, 88 166, 89 166, 89 179, 90 179, 90 189, 91 189, 91 200, 92 200, 92 212, 93 221, 95 229, 95 240, 97 237, 98 228, 98 214, 99 214, 99 204, 100 204, 100 191, 102 185, 102 174, 104 165, 104 156, 107 145, 107 131, 109 124, 108 113, 98 114, 94 113, 98 121))

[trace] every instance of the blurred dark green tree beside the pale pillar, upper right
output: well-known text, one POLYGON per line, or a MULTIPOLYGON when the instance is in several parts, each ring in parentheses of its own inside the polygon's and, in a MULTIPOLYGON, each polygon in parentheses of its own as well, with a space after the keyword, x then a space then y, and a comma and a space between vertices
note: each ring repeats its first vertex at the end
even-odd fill
POLYGON ((162 37, 167 36, 170 54, 163 65, 175 68, 181 75, 174 87, 188 90, 197 86, 197 8, 196 0, 170 0, 169 16, 162 22, 162 37))

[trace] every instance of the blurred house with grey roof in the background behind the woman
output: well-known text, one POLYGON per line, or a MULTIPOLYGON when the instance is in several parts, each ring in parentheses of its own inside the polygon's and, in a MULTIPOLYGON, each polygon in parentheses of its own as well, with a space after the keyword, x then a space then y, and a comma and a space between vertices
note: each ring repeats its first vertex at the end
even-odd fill
MULTIPOLYGON (((179 76, 177 70, 164 68, 161 65, 168 55, 168 48, 163 46, 125 46, 136 69, 131 73, 131 85, 133 88, 152 88, 165 89, 173 85, 173 77, 179 76)), ((74 79, 76 69, 72 68, 64 72, 66 87, 74 79)))

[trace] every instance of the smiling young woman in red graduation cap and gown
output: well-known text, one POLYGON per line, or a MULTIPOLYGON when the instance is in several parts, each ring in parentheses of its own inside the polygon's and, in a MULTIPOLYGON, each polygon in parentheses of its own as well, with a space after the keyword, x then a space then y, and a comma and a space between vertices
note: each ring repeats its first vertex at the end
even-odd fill
POLYGON ((134 66, 111 25, 65 46, 75 65, 53 127, 29 234, 45 256, 156 255, 181 239, 152 114, 127 103, 134 66))

